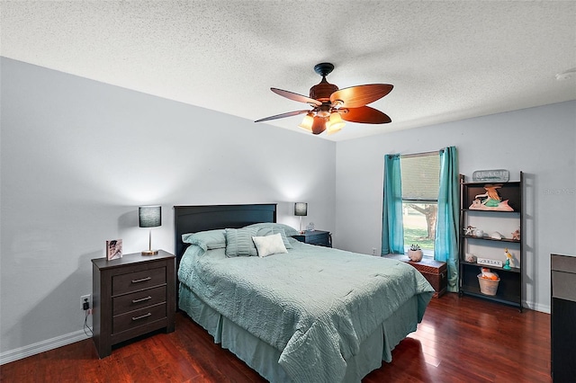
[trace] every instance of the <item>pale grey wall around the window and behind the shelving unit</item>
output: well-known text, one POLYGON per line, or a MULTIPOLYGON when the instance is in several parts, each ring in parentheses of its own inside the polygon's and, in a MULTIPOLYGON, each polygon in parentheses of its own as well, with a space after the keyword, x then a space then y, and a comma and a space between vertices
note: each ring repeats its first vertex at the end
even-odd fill
MULTIPOLYGON (((334 245, 380 254, 383 156, 455 146, 460 173, 526 175, 527 306, 550 310, 550 254, 576 255, 576 102, 339 142, 334 245)), ((469 180, 469 178, 467 178, 469 180)))

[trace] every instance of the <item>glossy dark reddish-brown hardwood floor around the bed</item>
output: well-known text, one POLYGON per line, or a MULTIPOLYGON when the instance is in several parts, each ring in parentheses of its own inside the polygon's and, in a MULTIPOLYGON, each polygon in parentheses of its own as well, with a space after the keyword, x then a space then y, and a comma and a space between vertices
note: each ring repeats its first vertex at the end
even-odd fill
MULTIPOLYGON (((550 316, 446 294, 430 302, 416 333, 363 382, 551 382, 550 316)), ((264 382, 202 327, 176 314, 153 334, 98 360, 91 340, 0 367, 2 382, 264 382)))

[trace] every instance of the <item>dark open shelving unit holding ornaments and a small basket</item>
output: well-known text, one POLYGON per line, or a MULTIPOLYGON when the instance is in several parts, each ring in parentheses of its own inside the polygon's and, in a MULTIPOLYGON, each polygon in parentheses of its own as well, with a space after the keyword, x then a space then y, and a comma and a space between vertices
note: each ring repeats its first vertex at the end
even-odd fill
MULTIPOLYGON (((467 183, 464 182, 464 175, 460 176, 460 259, 459 259, 459 293, 460 295, 469 295, 477 298, 484 298, 494 302, 499 302, 513 307, 518 307, 522 311, 522 287, 523 287, 523 274, 522 267, 524 265, 524 245, 522 236, 523 226, 523 200, 524 200, 524 174, 520 172, 519 182, 498 183, 498 189, 501 200, 508 200, 509 206, 514 211, 501 211, 501 210, 481 210, 469 209, 474 197, 485 192, 484 186, 488 184, 495 184, 498 182, 486 183, 467 183), (470 225, 471 219, 475 221, 484 220, 486 225, 490 226, 494 220, 502 218, 510 219, 512 221, 518 220, 518 227, 520 228, 520 239, 502 238, 495 239, 490 236, 471 236, 464 234, 465 228, 470 225), (485 247, 499 247, 501 245, 502 252, 505 248, 518 253, 518 267, 512 267, 507 270, 503 267, 487 266, 479 263, 471 263, 465 261, 465 255, 468 252, 470 245, 475 245, 476 248, 485 247), (496 295, 486 295, 481 292, 480 283, 478 281, 478 274, 481 273, 481 268, 487 267, 493 272, 497 272, 500 277, 499 286, 496 295)), ((486 227, 488 228, 488 227, 486 227)), ((488 234, 488 233, 487 233, 488 234)), ((493 251, 493 250, 492 250, 493 251)), ((482 254, 475 254, 477 257, 485 258, 482 254)), ((486 257, 490 258, 490 257, 486 257)))

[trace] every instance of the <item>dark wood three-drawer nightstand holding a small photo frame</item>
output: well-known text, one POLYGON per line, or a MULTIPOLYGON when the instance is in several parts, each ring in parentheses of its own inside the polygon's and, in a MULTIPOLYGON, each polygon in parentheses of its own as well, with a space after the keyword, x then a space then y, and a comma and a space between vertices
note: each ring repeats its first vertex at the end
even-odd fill
POLYGON ((93 340, 100 358, 112 345, 175 328, 175 256, 125 254, 92 260, 93 340))

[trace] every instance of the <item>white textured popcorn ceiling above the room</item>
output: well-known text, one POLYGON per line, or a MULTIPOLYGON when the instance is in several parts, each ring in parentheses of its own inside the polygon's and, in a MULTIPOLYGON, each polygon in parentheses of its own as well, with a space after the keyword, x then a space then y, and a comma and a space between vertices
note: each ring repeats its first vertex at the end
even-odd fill
MULTIPOLYGON (((306 109, 328 61, 340 88, 385 83, 392 123, 343 140, 576 100, 575 1, 2 1, 0 54, 248 120, 306 109)), ((267 122, 297 128, 302 116, 267 122)))

